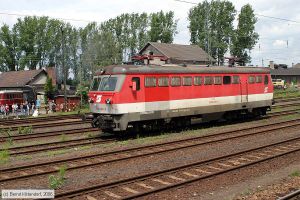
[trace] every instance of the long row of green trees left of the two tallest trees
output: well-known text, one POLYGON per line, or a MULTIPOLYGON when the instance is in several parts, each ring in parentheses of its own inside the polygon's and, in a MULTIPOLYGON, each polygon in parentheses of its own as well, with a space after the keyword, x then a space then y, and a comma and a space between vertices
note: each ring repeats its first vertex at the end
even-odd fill
POLYGON ((48 17, 19 18, 11 28, 0 27, 0 71, 55 66, 61 82, 64 63, 78 84, 81 78, 89 81, 97 66, 121 63, 125 50, 128 56, 136 54, 150 38, 172 42, 176 26, 174 13, 162 11, 121 14, 84 28, 48 17))

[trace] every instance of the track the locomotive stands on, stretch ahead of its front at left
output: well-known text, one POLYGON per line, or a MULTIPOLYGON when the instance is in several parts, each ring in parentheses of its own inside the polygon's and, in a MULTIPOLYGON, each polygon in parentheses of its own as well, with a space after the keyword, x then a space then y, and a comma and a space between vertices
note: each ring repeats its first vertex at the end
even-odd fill
MULTIPOLYGON (((98 130, 94 131, 98 132, 98 130)), ((84 134, 84 133, 83 133, 84 134)), ((1 150, 8 150, 10 156, 16 155, 24 155, 24 154, 32 154, 32 153, 40 153, 45 151, 53 151, 60 150, 66 148, 74 148, 84 145, 96 145, 96 144, 105 144, 116 141, 116 139, 100 139, 100 137, 95 138, 79 138, 72 139, 67 141, 56 141, 56 142, 48 142, 43 144, 35 144, 35 145, 26 145, 21 147, 11 147, 8 149, 1 148, 1 150)))

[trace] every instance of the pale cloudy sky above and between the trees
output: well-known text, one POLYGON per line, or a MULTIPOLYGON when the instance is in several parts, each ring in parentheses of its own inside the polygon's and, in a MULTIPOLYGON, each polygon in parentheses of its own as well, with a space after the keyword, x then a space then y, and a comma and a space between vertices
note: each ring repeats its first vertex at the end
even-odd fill
MULTIPOLYGON (((187 1, 202 2, 202 0, 187 1)), ((237 11, 249 3, 257 14, 256 32, 260 35, 260 39, 251 51, 252 65, 268 66, 270 61, 288 66, 300 63, 299 1, 231 0, 231 2, 237 11)), ((17 18, 22 16, 11 14, 18 14, 62 18, 76 27, 84 27, 89 22, 101 23, 122 13, 174 11, 175 19, 178 19, 178 34, 174 38, 174 43, 189 44, 188 12, 193 6, 195 5, 175 0, 0 0, 0 24, 12 26, 17 18)))

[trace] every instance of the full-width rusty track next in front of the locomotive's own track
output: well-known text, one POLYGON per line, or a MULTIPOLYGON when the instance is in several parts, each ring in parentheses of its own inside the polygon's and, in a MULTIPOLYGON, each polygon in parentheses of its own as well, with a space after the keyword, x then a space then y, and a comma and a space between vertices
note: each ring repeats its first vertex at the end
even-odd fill
POLYGON ((272 133, 276 130, 284 130, 298 126, 300 126, 300 119, 280 123, 265 124, 261 126, 249 127, 235 131, 220 132, 213 135, 198 136, 171 142, 163 142, 160 144, 145 145, 141 147, 128 148, 106 153, 98 153, 56 161, 47 161, 36 164, 2 168, 0 169, 0 183, 5 181, 55 173, 61 165, 66 166, 68 170, 80 169, 85 167, 124 161, 128 159, 138 159, 140 157, 153 156, 186 148, 200 147, 202 145, 224 142, 227 140, 239 139, 252 135, 267 134, 272 133))

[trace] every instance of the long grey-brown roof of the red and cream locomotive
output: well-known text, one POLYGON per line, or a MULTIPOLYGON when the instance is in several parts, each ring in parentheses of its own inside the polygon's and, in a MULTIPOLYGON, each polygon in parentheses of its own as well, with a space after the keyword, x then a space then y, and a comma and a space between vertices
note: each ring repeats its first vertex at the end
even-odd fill
POLYGON ((103 70, 96 72, 102 74, 215 74, 215 73, 270 73, 266 67, 226 67, 226 66, 181 66, 181 65, 111 65, 103 70), (104 70, 104 71, 103 71, 104 70))

